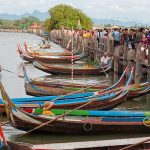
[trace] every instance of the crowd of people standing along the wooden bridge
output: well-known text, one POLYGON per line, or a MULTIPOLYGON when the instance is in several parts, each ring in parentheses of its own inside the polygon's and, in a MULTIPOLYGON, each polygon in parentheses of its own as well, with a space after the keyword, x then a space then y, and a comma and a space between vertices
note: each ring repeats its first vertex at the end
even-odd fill
MULTIPOLYGON (((51 31, 53 33, 53 31, 51 31)), ((97 41, 98 47, 102 44, 101 39, 110 39, 113 41, 113 46, 117 47, 119 45, 124 45, 128 49, 137 49, 137 46, 140 45, 142 55, 145 59, 148 56, 148 45, 150 45, 150 29, 148 28, 139 28, 139 29, 128 29, 128 28, 104 28, 104 29, 94 29, 94 30, 54 30, 56 33, 54 40, 56 43, 61 44, 61 41, 68 38, 68 41, 73 37, 76 43, 84 45, 86 47, 89 41, 97 41), (65 38, 67 35, 67 38, 65 38), (85 39, 88 39, 87 42, 85 39)), ((66 40, 66 44, 67 44, 66 40)), ((67 46, 67 45, 66 45, 67 46)), ((65 45, 64 45, 65 47, 65 45)), ((109 49, 109 48, 108 48, 109 49)), ((106 49, 104 49, 106 51, 106 49)))

